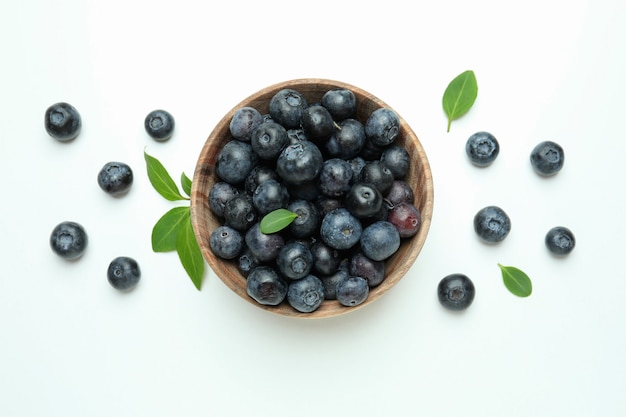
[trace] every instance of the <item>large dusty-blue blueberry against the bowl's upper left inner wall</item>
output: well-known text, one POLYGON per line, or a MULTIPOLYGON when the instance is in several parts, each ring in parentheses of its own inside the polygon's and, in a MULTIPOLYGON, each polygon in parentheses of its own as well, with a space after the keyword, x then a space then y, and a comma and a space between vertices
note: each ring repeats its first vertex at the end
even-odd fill
POLYGON ((217 155, 215 173, 229 184, 242 183, 257 164, 257 154, 249 143, 239 140, 227 142, 217 155))

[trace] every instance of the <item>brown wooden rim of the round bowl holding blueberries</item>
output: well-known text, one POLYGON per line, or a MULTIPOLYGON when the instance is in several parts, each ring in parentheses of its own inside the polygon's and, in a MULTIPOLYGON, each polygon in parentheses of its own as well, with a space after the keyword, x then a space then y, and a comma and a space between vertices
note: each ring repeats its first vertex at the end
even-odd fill
MULTIPOLYGON (((434 186, 433 186, 432 172, 430 169, 430 164, 429 164, 426 152, 419 138, 415 134, 415 132, 412 130, 412 128, 409 126, 406 120, 400 114, 398 114, 398 117, 400 119, 401 131, 404 132, 405 136, 409 136, 410 139, 407 139, 407 140, 410 140, 415 145, 415 151, 417 154, 415 156, 415 160, 419 161, 419 164, 421 165, 422 175, 424 177, 423 191, 421 192, 424 201, 422 204, 420 204, 420 206, 422 206, 422 209, 420 210, 422 224, 420 226, 420 230, 418 231, 417 235, 413 236, 411 239, 408 240, 409 242, 408 244, 411 246, 410 252, 409 252, 410 255, 403 259, 403 263, 401 265, 399 265, 393 271, 388 273, 388 276, 385 277, 385 280, 383 280, 383 283, 381 283, 377 287, 374 287, 373 289, 374 291, 370 291, 368 299, 364 303, 358 306, 344 307, 344 306, 341 306, 341 304, 339 304, 339 302, 337 302, 336 300, 325 300, 322 303, 322 306, 320 306, 320 308, 318 308, 312 313, 298 312, 293 308, 286 309, 286 308, 276 308, 275 306, 265 306, 265 305, 259 304, 254 299, 252 299, 246 293, 245 289, 242 290, 240 284, 237 284, 234 280, 229 279, 219 274, 217 272, 218 270, 220 270, 218 266, 219 265, 223 266, 225 261, 221 258, 218 258, 217 256, 213 254, 208 244, 208 237, 202 235, 201 230, 202 230, 203 219, 201 218, 201 213, 200 213, 200 211, 202 210, 199 209, 201 205, 205 205, 205 206, 208 205, 208 202, 204 201, 205 196, 208 194, 208 191, 207 190, 203 191, 199 189, 199 184, 201 183, 200 179, 206 176, 207 174, 214 175, 213 166, 210 166, 210 164, 207 164, 204 162, 205 155, 211 147, 210 145, 211 145, 212 139, 216 138, 219 135, 219 133, 222 132, 223 129, 225 129, 229 125, 230 120, 232 119, 232 116, 239 108, 246 106, 246 105, 250 105, 250 103, 256 102, 261 98, 267 98, 268 94, 270 94, 271 92, 275 92, 283 88, 292 88, 292 89, 298 90, 298 88, 303 88, 304 86, 311 86, 311 85, 325 86, 328 89, 335 89, 335 88, 350 89, 351 91, 355 93, 355 95, 357 95, 357 97, 358 96, 366 97, 367 100, 371 100, 372 102, 374 102, 377 107, 387 107, 390 109, 392 108, 383 100, 379 99, 378 97, 371 94, 370 92, 363 90, 360 87, 357 87, 355 85, 352 85, 343 81, 336 81, 336 80, 331 80, 331 79, 326 79, 326 78, 295 78, 295 79, 281 81, 281 82, 269 85, 267 87, 264 87, 258 90, 257 92, 253 94, 250 94, 248 97, 244 98, 243 100, 240 100, 218 121, 218 123, 214 126, 213 130, 211 131, 211 133, 205 140, 202 146, 202 149, 200 151, 198 162, 196 164, 193 179, 192 179, 190 210, 191 210, 191 223, 192 223, 193 232, 198 241, 198 244, 200 245, 203 258, 207 261, 213 273, 227 287, 229 287, 232 291, 234 291, 236 294, 238 294, 241 298, 245 299, 250 304, 253 304, 256 307, 262 310, 265 310, 267 312, 281 315, 281 316, 286 316, 286 317, 320 319, 320 318, 336 317, 339 315, 347 314, 349 312, 360 310, 361 308, 373 303, 378 298, 382 297, 382 295, 387 293, 389 289, 391 289, 400 279, 404 277, 404 275, 409 271, 409 269, 415 263, 417 256, 421 252, 421 249, 428 236, 428 232, 429 232, 430 225, 432 222, 432 215, 433 215, 434 186), (330 305, 332 306, 329 307, 330 305)), ((245 280, 245 277, 240 275, 240 280, 241 279, 245 280)))

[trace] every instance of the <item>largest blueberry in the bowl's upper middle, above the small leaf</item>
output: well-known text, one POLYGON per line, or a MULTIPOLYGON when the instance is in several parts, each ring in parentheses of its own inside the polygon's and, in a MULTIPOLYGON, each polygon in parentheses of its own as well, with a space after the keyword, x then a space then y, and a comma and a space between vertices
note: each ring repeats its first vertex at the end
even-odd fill
POLYGON ((276 172, 288 184, 302 184, 318 177, 324 156, 311 141, 287 146, 278 156, 276 172))

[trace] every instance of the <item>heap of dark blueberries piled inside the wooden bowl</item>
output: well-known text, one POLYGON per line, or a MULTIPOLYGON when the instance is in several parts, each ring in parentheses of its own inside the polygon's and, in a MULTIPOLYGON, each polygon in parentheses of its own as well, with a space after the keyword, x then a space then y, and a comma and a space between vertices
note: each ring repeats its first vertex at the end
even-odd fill
POLYGON ((304 313, 324 300, 357 306, 383 281, 402 239, 420 228, 398 115, 379 108, 358 120, 356 107, 349 89, 309 103, 286 88, 267 114, 243 107, 233 115, 209 191, 223 221, 210 247, 237 264, 262 305, 286 300, 304 313), (260 221, 278 209, 293 222, 264 233, 260 221))

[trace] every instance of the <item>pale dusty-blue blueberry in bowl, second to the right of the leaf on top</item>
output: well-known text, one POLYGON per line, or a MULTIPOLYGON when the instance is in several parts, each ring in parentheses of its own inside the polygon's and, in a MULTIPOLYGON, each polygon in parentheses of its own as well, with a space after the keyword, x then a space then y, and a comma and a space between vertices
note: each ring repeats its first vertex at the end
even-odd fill
POLYGON ((324 243, 338 250, 350 249, 356 245, 362 232, 361 222, 345 208, 326 214, 320 227, 320 236, 324 243))

